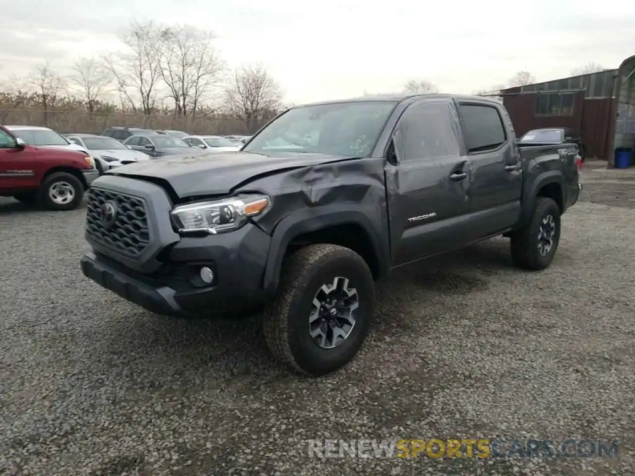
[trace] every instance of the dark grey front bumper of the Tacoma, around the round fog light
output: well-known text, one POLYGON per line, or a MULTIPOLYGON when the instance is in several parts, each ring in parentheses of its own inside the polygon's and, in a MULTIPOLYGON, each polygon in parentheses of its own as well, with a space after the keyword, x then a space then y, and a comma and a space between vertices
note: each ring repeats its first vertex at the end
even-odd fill
POLYGON ((157 272, 143 274, 101 253, 81 258, 83 274, 151 312, 186 317, 231 314, 264 302, 262 277, 271 238, 255 225, 201 238, 182 238, 157 272), (201 267, 213 270, 206 285, 201 267))

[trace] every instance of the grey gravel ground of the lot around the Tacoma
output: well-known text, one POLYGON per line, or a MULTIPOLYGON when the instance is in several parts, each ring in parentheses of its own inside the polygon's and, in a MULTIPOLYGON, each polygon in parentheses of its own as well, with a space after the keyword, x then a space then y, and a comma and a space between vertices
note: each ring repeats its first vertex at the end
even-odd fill
POLYGON ((396 272, 361 354, 317 380, 272 362, 257 316, 166 319, 84 279, 83 209, 0 199, 0 473, 634 474, 635 182, 587 182, 549 270, 493 239, 396 272), (618 438, 620 459, 307 451, 457 435, 618 438))

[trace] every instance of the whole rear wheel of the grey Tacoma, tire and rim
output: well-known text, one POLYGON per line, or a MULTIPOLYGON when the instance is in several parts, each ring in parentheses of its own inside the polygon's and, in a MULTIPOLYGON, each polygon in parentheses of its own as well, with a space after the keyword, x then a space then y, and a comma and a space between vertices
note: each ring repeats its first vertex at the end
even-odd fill
POLYGON ((551 265, 560 242, 560 209, 547 197, 538 197, 528 223, 511 234, 514 264, 528 270, 551 265))

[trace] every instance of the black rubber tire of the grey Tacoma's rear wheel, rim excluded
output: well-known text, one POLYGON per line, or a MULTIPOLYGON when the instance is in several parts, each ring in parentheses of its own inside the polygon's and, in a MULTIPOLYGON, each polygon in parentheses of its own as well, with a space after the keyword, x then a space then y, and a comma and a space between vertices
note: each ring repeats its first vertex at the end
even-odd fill
POLYGON ((550 198, 537 197, 529 221, 523 228, 511 234, 510 246, 514 265, 531 271, 548 268, 558 249, 560 230, 560 209, 558 204, 550 198), (554 218, 556 232, 551 249, 543 256, 538 251, 538 234, 540 233, 540 223, 549 215, 554 218))

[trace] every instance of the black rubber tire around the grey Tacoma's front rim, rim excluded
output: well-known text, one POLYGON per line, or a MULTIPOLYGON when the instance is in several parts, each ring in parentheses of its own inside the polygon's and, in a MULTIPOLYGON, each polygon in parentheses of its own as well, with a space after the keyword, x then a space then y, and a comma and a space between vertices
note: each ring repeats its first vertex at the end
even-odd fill
POLYGON ((300 248, 284 259, 277 297, 265 305, 264 335, 279 362, 299 373, 320 376, 343 367, 358 353, 370 329, 375 284, 366 261, 351 249, 333 244, 300 248), (356 323, 334 348, 321 348, 309 334, 309 315, 318 289, 335 277, 349 279, 358 292, 356 323))

